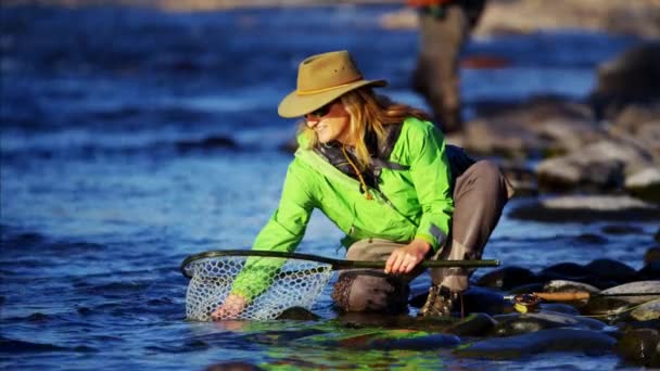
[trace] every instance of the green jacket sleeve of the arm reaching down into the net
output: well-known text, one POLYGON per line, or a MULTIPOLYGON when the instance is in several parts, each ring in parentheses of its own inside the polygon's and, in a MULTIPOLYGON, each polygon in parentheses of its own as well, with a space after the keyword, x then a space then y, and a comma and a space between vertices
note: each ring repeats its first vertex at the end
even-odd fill
MULTIPOLYGON (((289 166, 278 208, 257 234, 253 250, 293 252, 300 244, 314 209, 305 168, 294 159, 289 166)), ((285 259, 251 257, 237 276, 232 293, 251 302, 264 292, 285 259)))

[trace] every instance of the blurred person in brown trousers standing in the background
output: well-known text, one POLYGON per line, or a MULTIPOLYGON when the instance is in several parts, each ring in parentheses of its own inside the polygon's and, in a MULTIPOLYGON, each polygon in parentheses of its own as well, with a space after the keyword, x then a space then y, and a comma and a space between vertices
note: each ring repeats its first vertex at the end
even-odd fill
POLYGON ((459 56, 485 0, 407 0, 419 12, 419 54, 412 88, 445 133, 462 130, 459 56))

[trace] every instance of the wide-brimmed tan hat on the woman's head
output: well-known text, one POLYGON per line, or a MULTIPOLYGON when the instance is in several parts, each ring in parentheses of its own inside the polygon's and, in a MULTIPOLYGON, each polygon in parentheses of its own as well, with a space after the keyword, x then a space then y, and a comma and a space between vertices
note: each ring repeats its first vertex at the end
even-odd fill
POLYGON ((296 89, 280 102, 282 117, 299 117, 365 86, 384 87, 385 80, 366 80, 346 50, 312 55, 297 68, 296 89))

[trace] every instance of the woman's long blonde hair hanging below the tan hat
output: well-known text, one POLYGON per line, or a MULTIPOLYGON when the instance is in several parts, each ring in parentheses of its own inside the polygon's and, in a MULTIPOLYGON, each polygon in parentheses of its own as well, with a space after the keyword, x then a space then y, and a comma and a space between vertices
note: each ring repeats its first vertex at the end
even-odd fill
MULTIPOLYGON (((344 110, 351 115, 348 135, 355 141, 355 156, 360 170, 369 165, 370 154, 365 142, 368 129, 376 133, 378 143, 381 144, 385 141, 385 125, 401 124, 408 117, 430 119, 426 112, 393 102, 388 97, 377 95, 369 87, 350 91, 340 99, 344 110)), ((313 129, 305 125, 305 121, 301 124, 300 131, 307 138, 309 149, 320 144, 318 137, 313 129)))

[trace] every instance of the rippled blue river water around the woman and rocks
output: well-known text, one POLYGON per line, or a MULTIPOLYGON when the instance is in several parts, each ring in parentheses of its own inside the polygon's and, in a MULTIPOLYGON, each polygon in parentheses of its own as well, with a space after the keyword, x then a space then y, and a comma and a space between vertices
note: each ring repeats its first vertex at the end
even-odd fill
MULTIPOLYGON (((408 88, 417 36, 383 30, 388 7, 164 13, 126 8, 2 8, 0 14, 0 364, 8 369, 330 368, 584 369, 613 355, 458 359, 450 348, 356 350, 305 342, 351 331, 326 291, 318 321, 229 329, 185 321, 179 264, 250 246, 277 205, 295 132, 279 118, 306 55, 350 49, 384 92, 408 88), (569 364, 571 364, 569 367, 569 364)), ((466 69, 466 110, 540 93, 582 98, 595 66, 634 42, 566 33, 473 40, 467 54, 510 66, 466 69)), ((517 203, 515 200, 507 210, 517 203)), ((640 268, 655 226, 545 225, 504 216, 485 258, 540 270, 609 257, 640 268), (604 238, 585 242, 584 234, 604 238)), ((321 215, 299 250, 330 257, 340 233, 321 215)), ((477 274, 481 274, 478 272, 477 274)), ((414 289, 424 290, 424 282, 414 289)))

